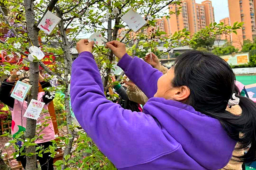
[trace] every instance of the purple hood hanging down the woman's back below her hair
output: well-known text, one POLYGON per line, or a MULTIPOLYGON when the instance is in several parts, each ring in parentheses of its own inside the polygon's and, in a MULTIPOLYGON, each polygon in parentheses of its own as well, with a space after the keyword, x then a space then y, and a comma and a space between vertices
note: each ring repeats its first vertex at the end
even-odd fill
POLYGON ((220 169, 231 159, 236 141, 217 119, 189 105, 163 98, 149 99, 143 109, 145 114, 155 117, 167 138, 174 138, 205 169, 220 169))

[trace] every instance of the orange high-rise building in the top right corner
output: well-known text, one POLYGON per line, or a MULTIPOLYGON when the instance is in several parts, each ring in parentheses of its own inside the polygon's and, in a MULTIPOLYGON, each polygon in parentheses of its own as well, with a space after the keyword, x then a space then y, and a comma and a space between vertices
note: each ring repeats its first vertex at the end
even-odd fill
POLYGON ((230 24, 244 22, 243 29, 231 34, 232 45, 241 49, 244 40, 251 40, 256 36, 255 30, 255 0, 228 0, 230 24))

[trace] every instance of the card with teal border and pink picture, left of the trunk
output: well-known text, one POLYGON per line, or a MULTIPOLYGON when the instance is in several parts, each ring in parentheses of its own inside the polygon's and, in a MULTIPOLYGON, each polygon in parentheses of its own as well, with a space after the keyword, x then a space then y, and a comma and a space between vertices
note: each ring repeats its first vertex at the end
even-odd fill
POLYGON ((12 91, 11 97, 19 101, 24 101, 30 88, 31 88, 31 85, 28 85, 21 81, 17 81, 12 91))

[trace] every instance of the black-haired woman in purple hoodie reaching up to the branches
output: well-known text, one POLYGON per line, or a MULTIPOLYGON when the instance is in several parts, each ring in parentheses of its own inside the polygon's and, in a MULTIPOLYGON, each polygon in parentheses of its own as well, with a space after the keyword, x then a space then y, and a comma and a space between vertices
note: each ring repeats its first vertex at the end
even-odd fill
POLYGON ((123 43, 108 42, 119 67, 149 98, 143 112, 132 112, 106 99, 93 44, 80 40, 76 45, 80 54, 72 65, 71 105, 119 170, 220 169, 237 142, 240 149, 250 148, 240 160, 255 160, 255 103, 234 94, 234 73, 220 57, 189 51, 163 75, 129 56, 123 43), (237 104, 241 115, 225 110, 237 104))

